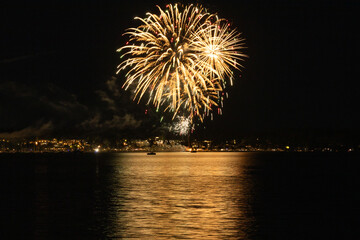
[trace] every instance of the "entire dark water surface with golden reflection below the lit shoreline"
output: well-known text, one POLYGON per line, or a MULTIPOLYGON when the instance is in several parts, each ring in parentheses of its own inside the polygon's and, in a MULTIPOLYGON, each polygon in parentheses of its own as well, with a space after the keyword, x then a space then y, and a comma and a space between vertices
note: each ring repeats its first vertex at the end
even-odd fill
POLYGON ((0 239, 346 239, 358 157, 1 154, 0 239))

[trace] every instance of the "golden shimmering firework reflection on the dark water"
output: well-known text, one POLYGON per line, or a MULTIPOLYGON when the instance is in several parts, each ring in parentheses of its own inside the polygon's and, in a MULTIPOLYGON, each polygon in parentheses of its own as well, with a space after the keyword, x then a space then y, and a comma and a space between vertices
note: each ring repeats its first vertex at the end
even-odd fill
POLYGON ((118 161, 112 237, 247 239, 254 220, 241 153, 132 153, 118 161))

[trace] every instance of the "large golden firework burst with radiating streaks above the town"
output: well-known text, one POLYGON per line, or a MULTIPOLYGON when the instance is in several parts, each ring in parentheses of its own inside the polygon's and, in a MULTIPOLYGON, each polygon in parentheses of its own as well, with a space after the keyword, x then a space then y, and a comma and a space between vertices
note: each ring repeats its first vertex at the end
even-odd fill
MULTIPOLYGON (((192 122, 203 121, 213 107, 220 107, 221 93, 233 68, 245 55, 240 33, 224 19, 201 6, 167 5, 159 14, 136 17, 141 24, 129 28, 129 41, 119 48, 125 57, 118 72, 127 71, 125 89, 135 86, 135 99, 145 95, 148 104, 192 122)), ((222 103, 221 103, 222 104, 222 103)))

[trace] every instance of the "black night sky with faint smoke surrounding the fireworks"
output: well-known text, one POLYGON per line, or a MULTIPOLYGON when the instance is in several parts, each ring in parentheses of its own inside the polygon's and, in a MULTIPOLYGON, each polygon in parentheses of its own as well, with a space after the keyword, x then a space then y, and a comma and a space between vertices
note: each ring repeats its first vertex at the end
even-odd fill
MULTIPOLYGON (((197 134, 359 136, 359 3, 197 2, 243 33, 250 56, 228 88, 223 115, 197 134)), ((121 89, 115 50, 135 16, 166 3, 2 2, 0 137, 164 133, 169 121, 121 89)))

